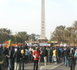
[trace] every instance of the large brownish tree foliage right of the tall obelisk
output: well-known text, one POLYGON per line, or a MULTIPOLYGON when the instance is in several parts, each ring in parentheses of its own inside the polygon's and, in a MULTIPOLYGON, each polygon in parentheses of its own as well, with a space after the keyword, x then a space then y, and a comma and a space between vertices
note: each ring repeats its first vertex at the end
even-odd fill
POLYGON ((57 26, 51 35, 51 40, 56 40, 59 43, 77 43, 77 21, 70 27, 57 26))

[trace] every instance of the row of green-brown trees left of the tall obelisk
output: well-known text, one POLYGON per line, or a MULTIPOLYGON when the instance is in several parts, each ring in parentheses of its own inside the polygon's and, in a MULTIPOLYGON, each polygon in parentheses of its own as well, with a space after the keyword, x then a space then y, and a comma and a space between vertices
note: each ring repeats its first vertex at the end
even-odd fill
POLYGON ((25 41, 35 41, 36 34, 27 34, 27 32, 18 32, 16 34, 12 34, 11 30, 6 28, 0 28, 0 42, 3 43, 7 40, 11 39, 13 43, 24 43, 25 41))

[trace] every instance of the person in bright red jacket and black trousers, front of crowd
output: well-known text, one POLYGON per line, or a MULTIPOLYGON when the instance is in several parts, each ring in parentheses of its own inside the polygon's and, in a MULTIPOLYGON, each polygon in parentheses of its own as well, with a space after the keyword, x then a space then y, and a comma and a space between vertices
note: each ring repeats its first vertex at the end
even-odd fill
POLYGON ((34 67, 33 70, 38 70, 38 61, 39 61, 40 53, 38 51, 38 47, 34 49, 33 57, 34 57, 34 67))

